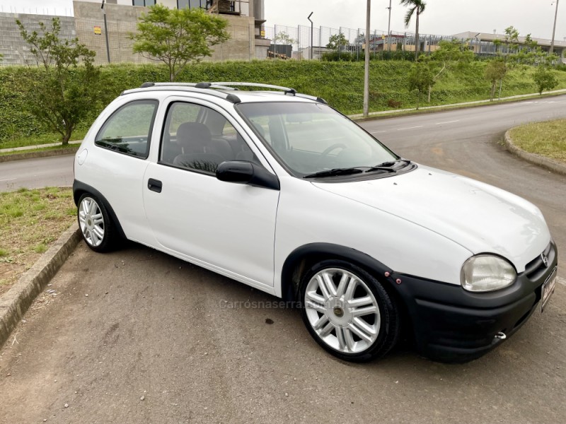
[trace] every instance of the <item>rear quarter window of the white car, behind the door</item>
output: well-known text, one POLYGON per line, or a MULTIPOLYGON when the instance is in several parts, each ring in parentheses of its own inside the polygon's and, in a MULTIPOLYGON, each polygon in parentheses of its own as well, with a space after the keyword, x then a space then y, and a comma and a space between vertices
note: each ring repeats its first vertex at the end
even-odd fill
POLYGON ((157 100, 136 100, 123 105, 106 120, 94 143, 146 159, 157 105, 157 100))

